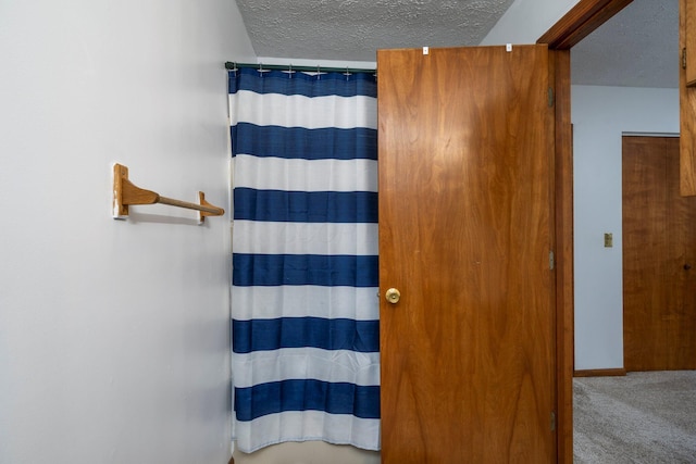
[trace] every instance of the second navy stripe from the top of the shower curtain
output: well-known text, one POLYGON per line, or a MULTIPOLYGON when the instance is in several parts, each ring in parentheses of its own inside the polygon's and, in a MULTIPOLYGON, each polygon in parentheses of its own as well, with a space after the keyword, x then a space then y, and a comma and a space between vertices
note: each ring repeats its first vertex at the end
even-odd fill
POLYGON ((364 127, 259 126, 239 123, 231 128, 233 153, 304 160, 376 160, 377 131, 364 127))

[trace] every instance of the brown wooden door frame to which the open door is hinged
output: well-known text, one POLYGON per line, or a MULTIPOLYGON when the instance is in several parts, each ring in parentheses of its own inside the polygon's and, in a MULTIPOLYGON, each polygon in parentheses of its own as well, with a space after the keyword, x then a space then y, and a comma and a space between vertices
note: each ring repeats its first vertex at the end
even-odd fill
POLYGON ((573 140, 570 50, 633 0, 580 0, 537 43, 546 43, 556 87, 556 363, 558 462, 573 462, 573 140))

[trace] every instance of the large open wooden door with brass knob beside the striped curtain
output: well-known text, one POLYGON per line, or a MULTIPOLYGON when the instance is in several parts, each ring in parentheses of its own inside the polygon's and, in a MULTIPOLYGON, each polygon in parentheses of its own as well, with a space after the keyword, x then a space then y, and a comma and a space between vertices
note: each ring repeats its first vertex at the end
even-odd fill
POLYGON ((377 52, 385 464, 556 461, 548 67, 377 52))

